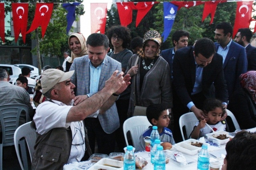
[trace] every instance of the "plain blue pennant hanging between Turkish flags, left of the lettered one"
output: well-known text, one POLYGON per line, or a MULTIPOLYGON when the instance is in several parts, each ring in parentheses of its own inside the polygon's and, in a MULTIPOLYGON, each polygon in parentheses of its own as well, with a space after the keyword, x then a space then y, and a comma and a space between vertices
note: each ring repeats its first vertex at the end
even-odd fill
POLYGON ((69 33, 69 30, 71 29, 72 24, 76 19, 75 10, 76 10, 76 6, 79 6, 79 4, 81 4, 81 3, 70 2, 70 3, 62 4, 62 7, 68 11, 68 14, 66 16, 66 18, 67 18, 67 34, 69 33))

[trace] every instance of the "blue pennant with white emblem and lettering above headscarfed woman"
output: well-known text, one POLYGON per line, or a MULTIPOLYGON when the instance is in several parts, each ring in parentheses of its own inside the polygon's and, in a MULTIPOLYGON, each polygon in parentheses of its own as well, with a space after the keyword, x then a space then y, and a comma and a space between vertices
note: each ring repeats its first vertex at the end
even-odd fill
POLYGON ((178 6, 170 2, 163 2, 163 42, 165 42, 171 32, 177 10, 178 6))

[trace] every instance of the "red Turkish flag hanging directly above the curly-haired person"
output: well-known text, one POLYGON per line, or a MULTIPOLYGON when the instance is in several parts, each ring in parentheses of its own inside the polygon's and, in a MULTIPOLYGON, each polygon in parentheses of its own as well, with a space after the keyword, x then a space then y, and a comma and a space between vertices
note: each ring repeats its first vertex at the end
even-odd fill
POLYGON ((133 20, 133 10, 136 10, 133 2, 117 2, 117 10, 121 26, 127 27, 133 20))

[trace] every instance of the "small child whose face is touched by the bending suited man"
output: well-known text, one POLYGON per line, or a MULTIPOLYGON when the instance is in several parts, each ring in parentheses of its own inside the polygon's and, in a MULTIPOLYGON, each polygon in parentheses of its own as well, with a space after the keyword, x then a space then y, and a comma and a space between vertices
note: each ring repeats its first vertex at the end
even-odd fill
POLYGON ((191 138, 198 139, 200 137, 206 137, 206 134, 211 133, 212 129, 214 131, 226 130, 226 121, 220 121, 220 118, 225 112, 222 102, 218 99, 206 99, 204 102, 203 111, 209 118, 206 120, 198 121, 191 132, 191 138), (210 129, 206 126, 206 123, 212 127, 210 129))

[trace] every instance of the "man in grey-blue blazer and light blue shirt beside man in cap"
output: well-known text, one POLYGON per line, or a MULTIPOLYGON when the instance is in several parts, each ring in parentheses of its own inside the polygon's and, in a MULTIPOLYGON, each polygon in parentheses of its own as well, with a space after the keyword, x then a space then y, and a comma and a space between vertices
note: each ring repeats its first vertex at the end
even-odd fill
MULTIPOLYGON (((88 55, 76 58, 70 70, 75 70, 71 77, 76 85, 76 95, 83 95, 85 100, 105 86, 105 81, 115 70, 121 71, 121 63, 107 55, 109 39, 104 34, 91 34, 86 42, 88 55)), ((97 111, 92 117, 85 119, 88 130, 89 144, 94 153, 95 138, 101 154, 115 151, 115 130, 119 128, 119 117, 115 100, 119 94, 112 95, 112 102, 104 113, 97 111)))

